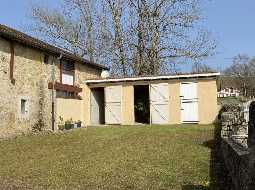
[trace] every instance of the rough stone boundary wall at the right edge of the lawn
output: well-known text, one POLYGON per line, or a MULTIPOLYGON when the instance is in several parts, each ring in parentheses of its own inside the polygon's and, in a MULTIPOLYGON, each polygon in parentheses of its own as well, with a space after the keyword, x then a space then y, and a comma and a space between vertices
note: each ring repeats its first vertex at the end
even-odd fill
POLYGON ((252 176, 251 151, 247 139, 248 126, 246 110, 242 105, 225 105, 220 113, 222 125, 221 151, 231 178, 230 190, 251 190, 252 176))

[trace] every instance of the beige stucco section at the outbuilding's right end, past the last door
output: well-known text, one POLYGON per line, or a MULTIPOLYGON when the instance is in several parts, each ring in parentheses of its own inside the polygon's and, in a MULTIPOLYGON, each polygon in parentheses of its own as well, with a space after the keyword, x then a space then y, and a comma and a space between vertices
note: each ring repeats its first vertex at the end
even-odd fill
POLYGON ((198 113, 200 124, 213 123, 217 118, 217 85, 215 79, 198 81, 198 113))

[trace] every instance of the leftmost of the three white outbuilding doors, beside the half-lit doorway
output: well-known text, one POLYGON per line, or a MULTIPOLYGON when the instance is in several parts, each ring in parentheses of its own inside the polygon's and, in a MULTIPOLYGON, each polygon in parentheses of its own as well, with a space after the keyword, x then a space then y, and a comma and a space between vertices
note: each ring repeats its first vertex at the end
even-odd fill
POLYGON ((105 123, 121 124, 121 86, 105 87, 105 123))

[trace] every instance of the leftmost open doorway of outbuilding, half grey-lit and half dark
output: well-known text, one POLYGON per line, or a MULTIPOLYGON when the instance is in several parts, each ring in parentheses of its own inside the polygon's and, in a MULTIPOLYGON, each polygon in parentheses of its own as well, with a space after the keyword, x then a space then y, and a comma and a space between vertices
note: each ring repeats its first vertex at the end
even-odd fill
POLYGON ((105 124, 104 88, 91 89, 91 123, 92 125, 105 124))

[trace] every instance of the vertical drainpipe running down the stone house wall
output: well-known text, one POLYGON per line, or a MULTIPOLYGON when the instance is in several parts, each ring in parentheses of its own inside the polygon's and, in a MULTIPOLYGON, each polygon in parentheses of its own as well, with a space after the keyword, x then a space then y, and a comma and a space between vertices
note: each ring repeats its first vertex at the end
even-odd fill
MULTIPOLYGON (((61 60, 62 59, 62 53, 59 55, 59 57, 57 57, 57 60, 61 60)), ((56 98, 55 98, 55 82, 56 82, 56 69, 55 69, 55 57, 53 57, 52 60, 52 70, 51 70, 51 77, 52 77, 52 91, 51 91, 51 125, 52 125, 52 131, 55 131, 55 105, 56 105, 56 98)))

